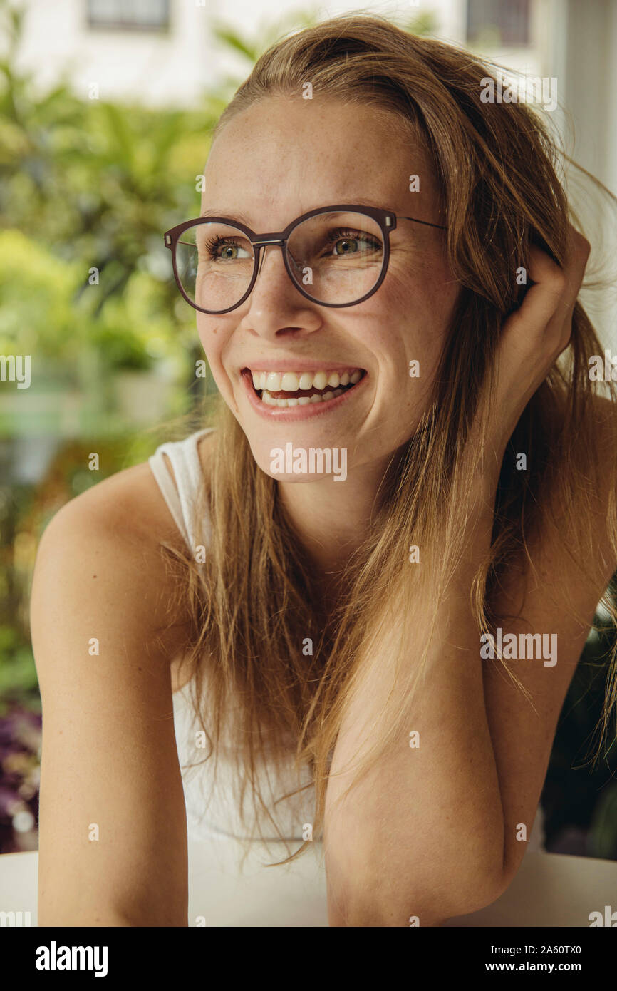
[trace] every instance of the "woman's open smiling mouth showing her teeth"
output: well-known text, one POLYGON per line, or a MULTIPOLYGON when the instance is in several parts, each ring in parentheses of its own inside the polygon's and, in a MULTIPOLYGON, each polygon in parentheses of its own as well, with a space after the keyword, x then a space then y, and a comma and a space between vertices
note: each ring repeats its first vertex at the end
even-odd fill
POLYGON ((335 399, 342 392, 349 392, 358 385, 366 375, 366 370, 343 368, 340 372, 252 372, 245 368, 241 375, 251 378, 261 402, 284 408, 335 399))

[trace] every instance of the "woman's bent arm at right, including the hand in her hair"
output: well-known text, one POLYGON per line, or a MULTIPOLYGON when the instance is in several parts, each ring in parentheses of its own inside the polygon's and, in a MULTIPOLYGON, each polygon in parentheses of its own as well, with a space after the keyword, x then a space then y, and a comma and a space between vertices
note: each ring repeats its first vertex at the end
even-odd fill
MULTIPOLYGON (((575 554, 576 548, 545 539, 542 547, 531 549, 538 584, 528 588, 523 576, 507 577, 497 614, 516 615, 522 606, 528 622, 504 619, 504 630, 558 638, 557 664, 512 662, 527 697, 499 670, 499 662, 482 670, 469 590, 477 555, 481 559, 490 542, 505 445, 569 336, 568 316, 588 250, 581 242, 574 239, 567 278, 536 253, 531 275, 537 284, 510 323, 515 334, 504 334, 511 350, 502 363, 509 379, 504 375, 500 381, 501 421, 485 435, 490 456, 476 492, 461 507, 466 553, 451 576, 426 677, 409 710, 408 732, 418 733, 420 745, 396 740, 342 799, 354 777, 346 770, 349 762, 362 756, 374 739, 388 695, 396 698, 397 688, 401 691, 394 679, 395 661, 402 660, 403 672, 413 669, 428 637, 423 617, 436 604, 420 604, 411 642, 400 644, 394 618, 390 632, 364 659, 361 688, 348 701, 326 805, 331 925, 408 926, 412 917, 421 926, 439 925, 494 901, 523 856, 526 841, 520 825, 526 826, 529 838, 557 720, 588 631, 572 616, 572 606, 588 615, 590 624, 615 563, 602 561, 591 587, 573 573, 567 551, 575 554)), ((561 536, 567 541, 566 532, 561 536)), ((425 559, 423 567, 430 569, 430 561, 425 559)))

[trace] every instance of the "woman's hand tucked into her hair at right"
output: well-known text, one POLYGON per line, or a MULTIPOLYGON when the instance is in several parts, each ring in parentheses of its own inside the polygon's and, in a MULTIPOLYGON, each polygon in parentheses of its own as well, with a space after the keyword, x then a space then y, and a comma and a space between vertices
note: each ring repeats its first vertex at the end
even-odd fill
POLYGON ((539 248, 530 252, 530 288, 519 309, 503 325, 497 355, 497 381, 492 408, 476 418, 472 434, 486 434, 483 470, 496 485, 503 454, 514 428, 534 392, 566 349, 571 336, 572 311, 589 257, 590 245, 569 227, 569 250, 564 268, 539 248))

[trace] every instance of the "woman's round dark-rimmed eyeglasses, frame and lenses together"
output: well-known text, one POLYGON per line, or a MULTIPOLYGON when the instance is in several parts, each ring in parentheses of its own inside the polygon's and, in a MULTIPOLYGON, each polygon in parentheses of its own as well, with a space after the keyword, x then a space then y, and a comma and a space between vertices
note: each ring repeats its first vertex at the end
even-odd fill
POLYGON ((321 306, 354 306, 381 285, 390 257, 390 232, 411 220, 391 210, 339 204, 310 210, 284 231, 256 234, 229 217, 187 220, 164 234, 173 275, 184 299, 202 313, 229 313, 248 298, 261 249, 277 245, 294 286, 321 306))

